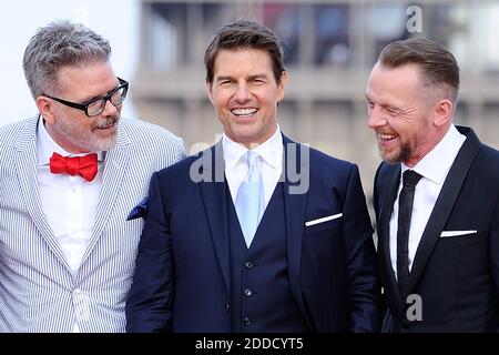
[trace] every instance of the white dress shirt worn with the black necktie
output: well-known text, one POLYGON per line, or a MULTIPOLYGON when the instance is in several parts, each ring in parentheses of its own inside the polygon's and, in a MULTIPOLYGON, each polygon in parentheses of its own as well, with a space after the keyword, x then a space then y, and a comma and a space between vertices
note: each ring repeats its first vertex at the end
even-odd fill
MULTIPOLYGON (((465 140, 466 136, 459 133, 454 124, 450 125, 442 140, 413 168, 422 178, 416 185, 410 217, 409 271, 413 268, 414 257, 435 202, 465 140)), ((400 183, 390 217, 390 258, 395 274, 397 274, 398 196, 403 187, 403 174, 408 169, 410 168, 401 163, 400 183)))

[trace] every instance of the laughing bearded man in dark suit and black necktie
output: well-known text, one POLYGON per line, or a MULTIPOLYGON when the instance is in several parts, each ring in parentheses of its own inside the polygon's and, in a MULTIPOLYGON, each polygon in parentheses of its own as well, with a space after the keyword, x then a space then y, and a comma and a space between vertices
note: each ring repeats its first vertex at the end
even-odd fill
POLYGON ((499 152, 452 124, 458 88, 454 55, 425 39, 388 44, 370 73, 387 332, 499 324, 499 152))

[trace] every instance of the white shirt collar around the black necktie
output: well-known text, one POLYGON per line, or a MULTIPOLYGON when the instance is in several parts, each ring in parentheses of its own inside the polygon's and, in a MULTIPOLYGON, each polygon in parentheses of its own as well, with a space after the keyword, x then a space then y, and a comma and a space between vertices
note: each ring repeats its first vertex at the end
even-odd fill
MULTIPOLYGON (((456 126, 451 124, 441 141, 438 142, 438 144, 429 151, 428 154, 413 168, 413 170, 424 178, 437 184, 441 184, 465 141, 466 135, 459 133, 456 126)), ((408 169, 410 168, 401 163, 403 174, 408 169)))

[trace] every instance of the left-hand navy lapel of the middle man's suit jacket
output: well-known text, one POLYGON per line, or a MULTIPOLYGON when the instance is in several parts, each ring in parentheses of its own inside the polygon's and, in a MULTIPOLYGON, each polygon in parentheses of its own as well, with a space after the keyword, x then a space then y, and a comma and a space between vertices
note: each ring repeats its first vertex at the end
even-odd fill
POLYGON ((200 173, 203 176, 203 181, 200 182, 201 197, 218 264, 228 292, 231 290, 231 265, 228 258, 225 162, 222 141, 218 141, 210 150, 203 151, 195 162, 197 164, 201 163, 200 173))

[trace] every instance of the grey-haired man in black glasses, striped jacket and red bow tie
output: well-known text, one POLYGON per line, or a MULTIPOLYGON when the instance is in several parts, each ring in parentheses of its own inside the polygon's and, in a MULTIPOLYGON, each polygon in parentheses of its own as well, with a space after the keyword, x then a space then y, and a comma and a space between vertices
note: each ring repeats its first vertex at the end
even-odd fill
POLYGON ((123 332, 142 219, 126 221, 181 139, 120 119, 111 48, 69 21, 23 59, 39 114, 0 129, 0 332, 123 332))

